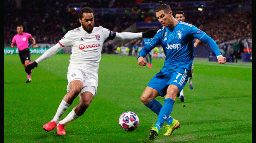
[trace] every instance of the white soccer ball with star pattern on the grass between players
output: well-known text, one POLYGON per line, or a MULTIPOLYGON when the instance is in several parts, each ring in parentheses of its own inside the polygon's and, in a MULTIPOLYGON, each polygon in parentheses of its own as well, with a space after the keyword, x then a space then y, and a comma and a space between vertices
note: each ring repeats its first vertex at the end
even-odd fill
POLYGON ((124 112, 119 116, 119 126, 125 131, 134 131, 138 125, 138 116, 131 111, 124 112))

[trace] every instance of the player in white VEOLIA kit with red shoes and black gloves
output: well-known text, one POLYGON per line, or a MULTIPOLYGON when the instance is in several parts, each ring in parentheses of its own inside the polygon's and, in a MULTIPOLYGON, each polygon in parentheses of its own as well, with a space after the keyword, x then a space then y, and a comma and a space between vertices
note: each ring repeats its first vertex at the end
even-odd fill
POLYGON ((97 93, 98 70, 103 42, 106 39, 152 38, 156 34, 154 30, 141 33, 118 33, 101 26, 94 27, 94 13, 92 8, 89 7, 82 8, 78 16, 79 22, 74 26, 73 30, 69 30, 56 45, 29 64, 25 70, 30 74, 30 70, 37 67, 37 64, 53 56, 63 47, 71 46, 72 54, 67 71, 67 94, 62 99, 54 118, 43 125, 43 129, 47 132, 57 126, 57 134, 59 135, 66 134, 64 126, 85 113, 97 93), (80 97, 78 105, 73 108, 66 118, 59 121, 62 114, 65 113, 78 95, 80 97))

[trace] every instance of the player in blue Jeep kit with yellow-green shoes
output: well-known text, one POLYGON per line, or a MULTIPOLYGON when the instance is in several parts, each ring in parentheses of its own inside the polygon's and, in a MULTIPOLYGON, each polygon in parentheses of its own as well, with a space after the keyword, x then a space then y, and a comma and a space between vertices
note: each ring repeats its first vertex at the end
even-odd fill
POLYGON ((194 25, 175 20, 169 5, 160 3, 157 5, 156 17, 163 25, 154 38, 147 44, 138 55, 138 64, 145 66, 145 56, 156 45, 162 44, 166 55, 164 66, 149 82, 140 100, 146 107, 158 115, 156 124, 152 125, 149 131, 149 139, 154 140, 158 135, 163 123, 167 122, 168 136, 180 126, 180 123, 173 119, 170 114, 175 103, 175 99, 180 95, 189 76, 191 76, 191 66, 194 60, 194 39, 199 39, 207 43, 216 54, 218 62, 224 64, 226 58, 221 56, 218 45, 205 32, 194 25), (164 97, 164 105, 155 98, 164 97))

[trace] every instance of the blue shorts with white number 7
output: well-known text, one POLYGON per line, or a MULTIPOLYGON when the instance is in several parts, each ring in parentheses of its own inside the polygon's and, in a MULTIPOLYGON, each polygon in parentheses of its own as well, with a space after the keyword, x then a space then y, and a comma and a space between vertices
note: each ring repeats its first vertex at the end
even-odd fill
POLYGON ((167 88, 170 84, 178 86, 180 96, 180 91, 187 83, 189 79, 189 71, 184 68, 171 69, 166 72, 158 72, 150 81, 147 86, 156 89, 161 97, 166 95, 167 88))

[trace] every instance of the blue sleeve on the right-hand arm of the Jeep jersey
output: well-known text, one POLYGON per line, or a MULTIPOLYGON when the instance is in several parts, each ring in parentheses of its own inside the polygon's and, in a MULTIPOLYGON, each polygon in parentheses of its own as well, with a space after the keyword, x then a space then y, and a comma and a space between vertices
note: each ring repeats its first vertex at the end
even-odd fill
POLYGON ((207 43, 211 47, 211 49, 213 50, 216 56, 221 55, 219 47, 216 44, 216 42, 211 37, 209 37, 209 35, 207 35, 205 32, 203 32, 202 30, 198 29, 195 26, 192 27, 190 32, 194 38, 207 43))

